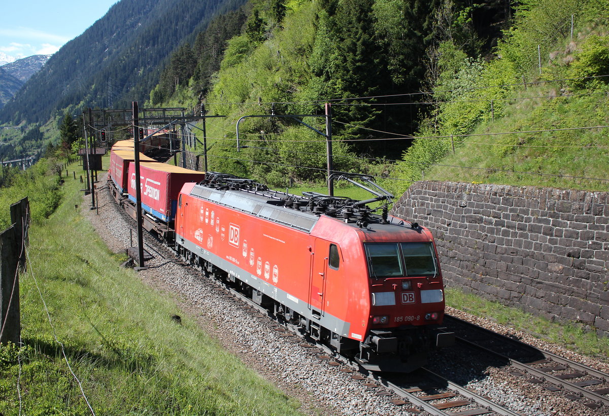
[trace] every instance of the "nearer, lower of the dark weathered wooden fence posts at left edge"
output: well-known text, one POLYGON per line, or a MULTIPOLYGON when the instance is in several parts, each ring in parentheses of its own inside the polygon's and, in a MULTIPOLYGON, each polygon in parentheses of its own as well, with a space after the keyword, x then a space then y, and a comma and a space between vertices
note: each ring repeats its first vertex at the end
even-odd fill
POLYGON ((19 253, 15 225, 0 234, 0 344, 19 345, 19 253))

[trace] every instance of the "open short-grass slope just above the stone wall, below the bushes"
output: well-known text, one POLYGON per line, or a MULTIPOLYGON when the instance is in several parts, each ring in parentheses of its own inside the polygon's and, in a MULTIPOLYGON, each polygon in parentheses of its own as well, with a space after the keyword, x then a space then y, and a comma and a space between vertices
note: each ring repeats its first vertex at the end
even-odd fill
POLYGON ((607 191, 609 182, 609 130, 569 130, 546 133, 491 135, 522 130, 568 129, 609 124, 609 98, 599 91, 585 95, 541 99, 548 88, 529 88, 505 104, 505 115, 484 122, 453 154, 425 172, 430 180, 532 185, 607 191), (468 166, 481 169, 463 169, 468 166), (521 173, 529 172, 529 173, 521 173), (562 177, 561 177, 562 175, 562 177), (577 177, 577 178, 571 178, 577 177), (585 177, 585 178, 580 178, 585 177))

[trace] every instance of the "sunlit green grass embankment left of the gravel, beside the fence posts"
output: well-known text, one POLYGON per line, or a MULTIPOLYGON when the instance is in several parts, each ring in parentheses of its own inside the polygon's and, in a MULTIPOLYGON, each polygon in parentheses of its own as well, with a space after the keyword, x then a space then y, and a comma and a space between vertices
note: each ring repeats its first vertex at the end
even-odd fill
POLYGON ((299 414, 193 319, 173 322, 184 315, 174 301, 119 267, 123 256, 74 208, 87 205, 80 188, 68 178, 57 212, 30 231, 20 282, 25 346, 0 347, 0 414, 18 414, 18 379, 24 414, 91 414, 54 333, 97 415, 299 414))

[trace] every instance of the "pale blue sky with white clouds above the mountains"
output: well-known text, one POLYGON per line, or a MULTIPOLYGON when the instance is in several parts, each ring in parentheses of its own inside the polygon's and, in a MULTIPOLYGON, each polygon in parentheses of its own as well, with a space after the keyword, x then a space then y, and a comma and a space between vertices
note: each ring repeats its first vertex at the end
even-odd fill
POLYGON ((54 54, 118 0, 0 0, 0 57, 54 54))

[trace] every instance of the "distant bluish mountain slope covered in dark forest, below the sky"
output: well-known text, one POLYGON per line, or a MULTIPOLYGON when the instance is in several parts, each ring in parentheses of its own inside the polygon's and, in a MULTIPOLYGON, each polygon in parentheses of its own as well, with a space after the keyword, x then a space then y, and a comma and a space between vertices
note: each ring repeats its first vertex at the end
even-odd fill
POLYGON ((158 79, 158 65, 178 44, 243 2, 121 0, 49 59, 0 110, 0 122, 41 122, 64 108, 141 100, 158 79))

